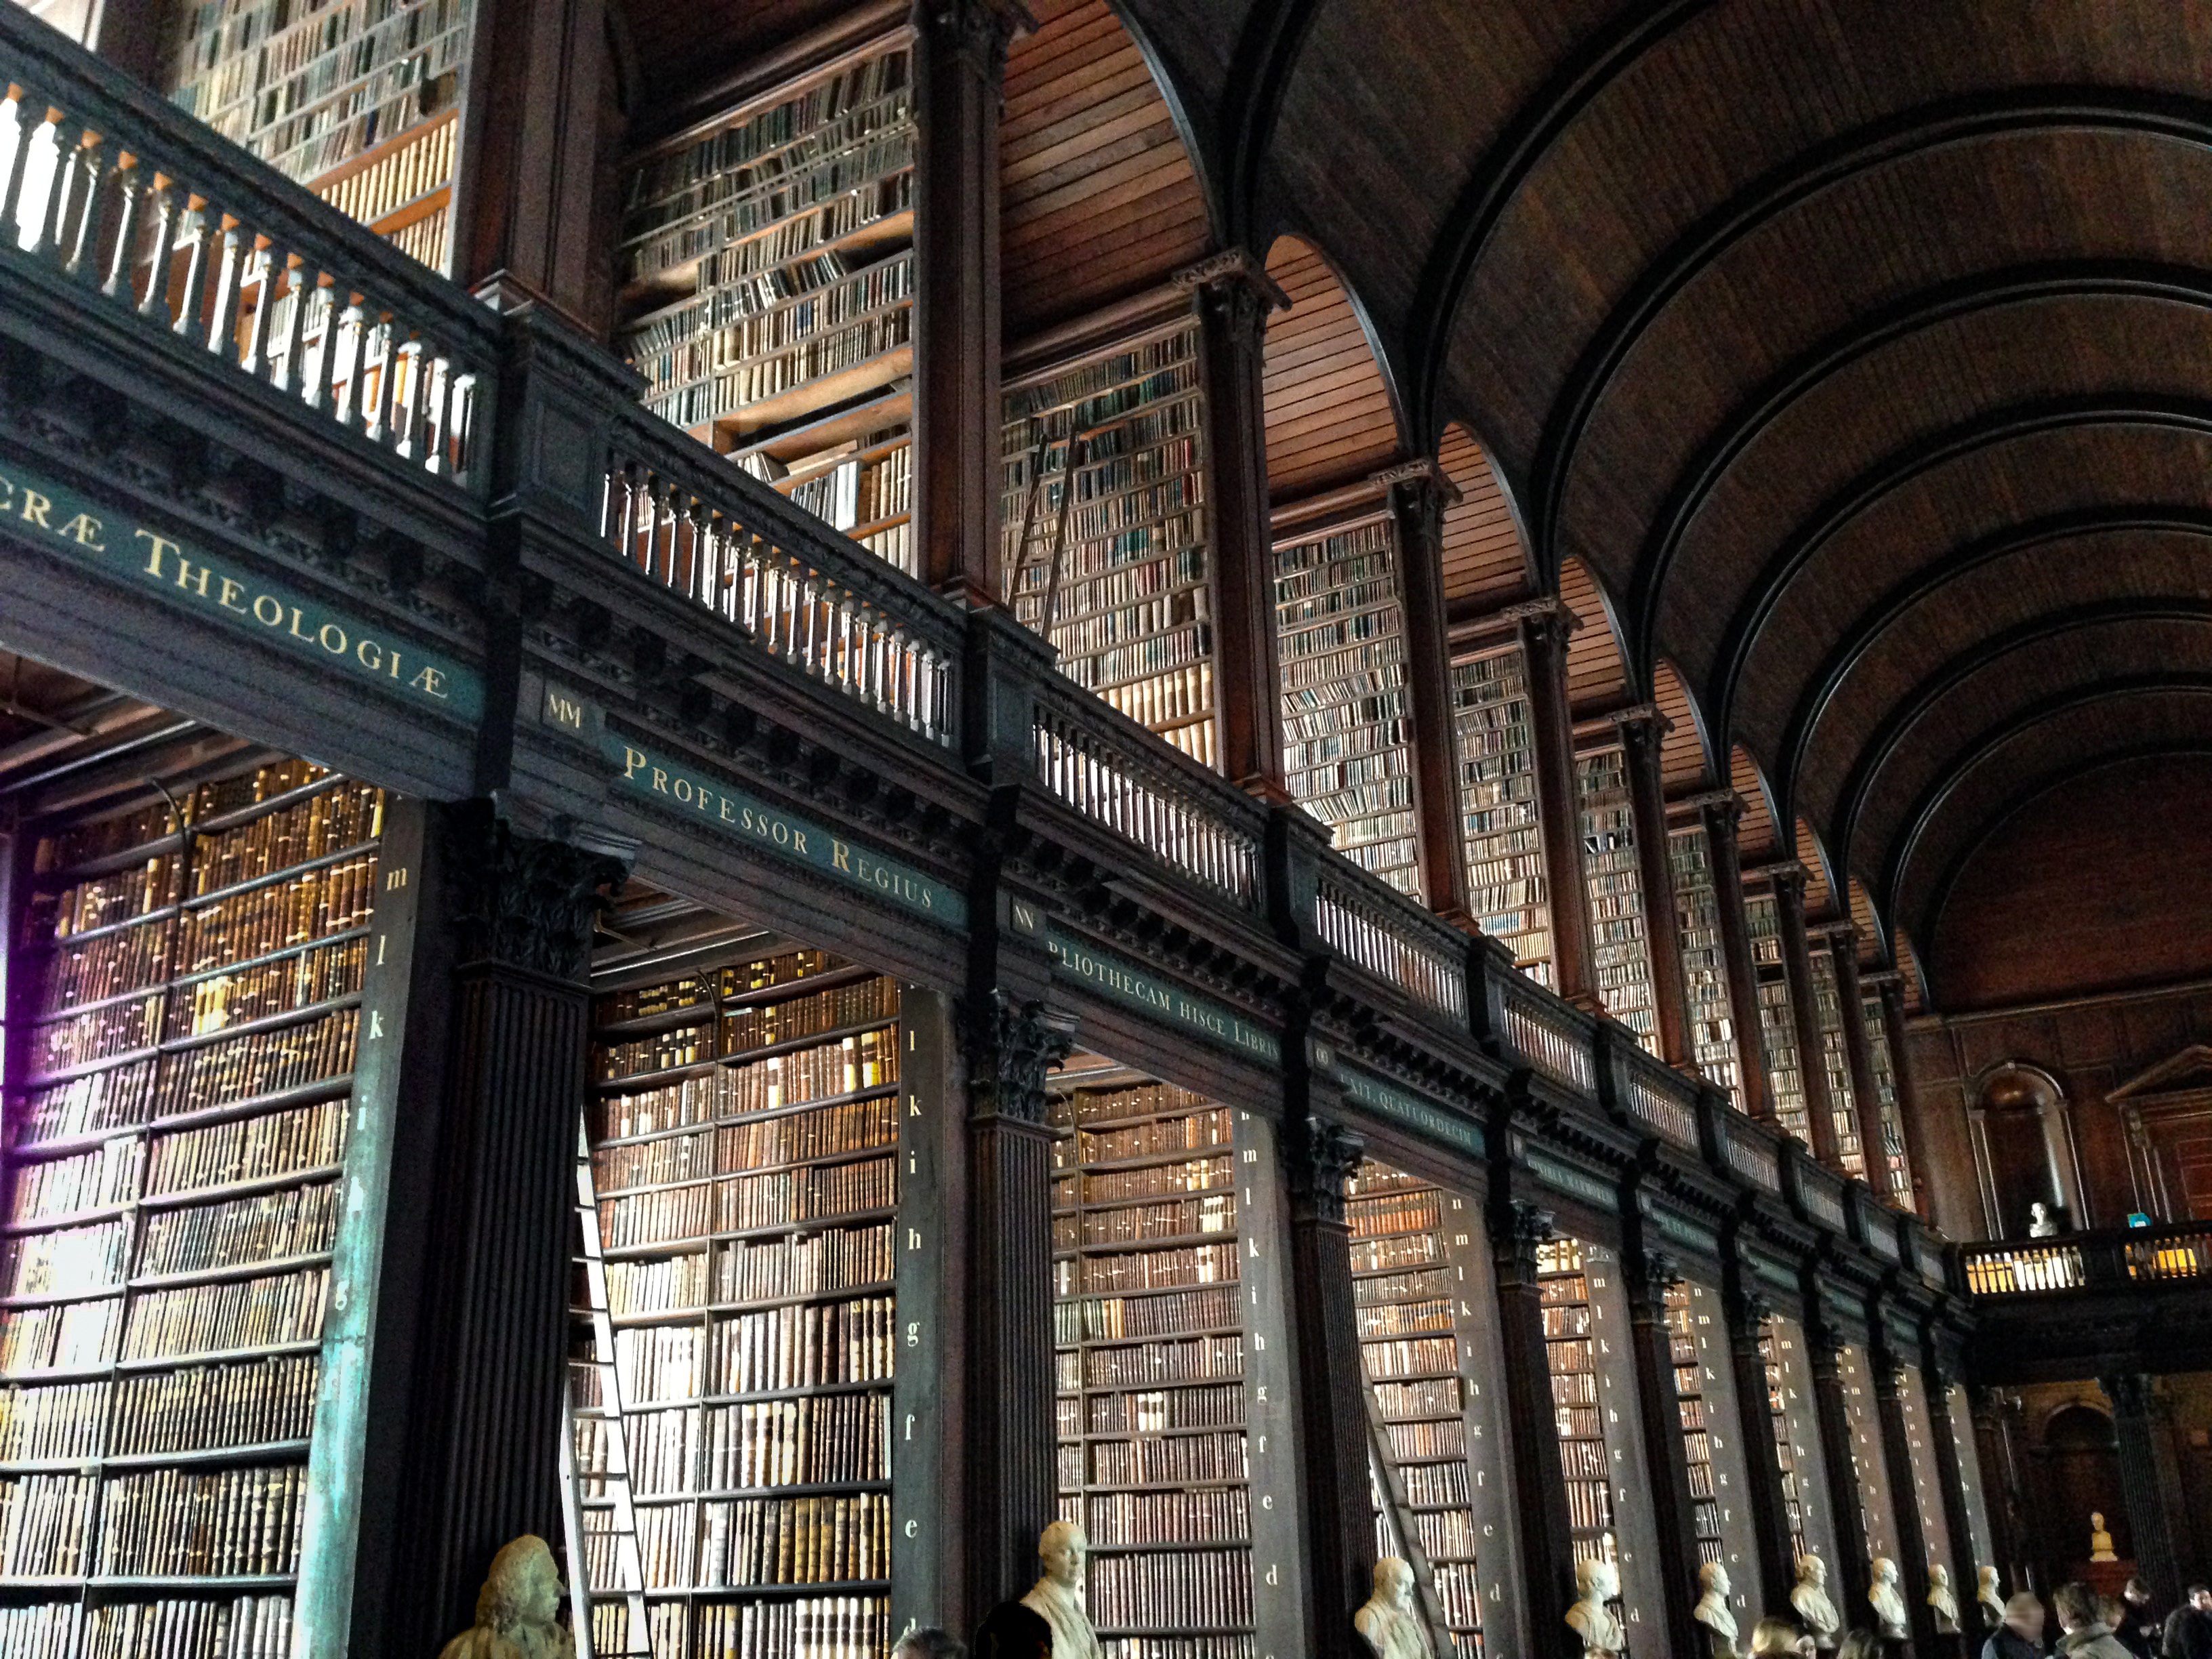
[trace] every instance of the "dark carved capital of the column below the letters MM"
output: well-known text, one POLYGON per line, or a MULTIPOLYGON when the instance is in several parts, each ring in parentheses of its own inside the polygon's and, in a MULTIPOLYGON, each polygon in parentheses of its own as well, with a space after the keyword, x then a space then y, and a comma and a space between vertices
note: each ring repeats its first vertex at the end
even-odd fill
POLYGON ((518 834, 491 801, 451 807, 445 838, 458 874, 451 925, 462 962, 502 962, 553 980, 588 973, 593 922, 628 876, 619 858, 518 834))

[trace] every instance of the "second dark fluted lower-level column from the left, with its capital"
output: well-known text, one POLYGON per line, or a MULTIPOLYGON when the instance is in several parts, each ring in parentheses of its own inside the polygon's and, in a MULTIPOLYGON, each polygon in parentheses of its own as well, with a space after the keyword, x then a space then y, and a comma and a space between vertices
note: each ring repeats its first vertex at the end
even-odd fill
POLYGON ((1053 1464, 1053 1130, 1044 1075, 1075 1020, 993 991, 962 1009, 969 1095, 967 1593, 971 1617, 1037 1577, 1053 1464))

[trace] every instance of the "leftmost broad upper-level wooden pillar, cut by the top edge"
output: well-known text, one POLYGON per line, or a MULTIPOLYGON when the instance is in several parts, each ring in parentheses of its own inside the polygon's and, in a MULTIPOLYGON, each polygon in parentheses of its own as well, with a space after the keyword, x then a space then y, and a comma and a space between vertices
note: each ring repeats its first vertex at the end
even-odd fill
POLYGON ((482 0, 451 208, 462 288, 551 305, 595 338, 615 301, 611 75, 604 0, 482 0))

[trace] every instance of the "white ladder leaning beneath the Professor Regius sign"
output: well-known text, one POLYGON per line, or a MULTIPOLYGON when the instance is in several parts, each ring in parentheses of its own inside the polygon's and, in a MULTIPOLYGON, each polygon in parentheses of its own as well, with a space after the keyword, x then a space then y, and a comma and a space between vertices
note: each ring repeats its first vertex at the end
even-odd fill
MULTIPOLYGON (((591 1175, 591 1133, 584 1115, 575 1119, 575 1221, 582 1241, 577 1265, 584 1270, 584 1305, 575 1310, 580 1325, 591 1325, 591 1358, 571 1358, 568 1453, 582 1458, 586 1444, 580 1427, 588 1425, 591 1464, 577 1473, 595 1486, 593 1498, 571 1504, 568 1573, 591 1584, 593 1608, 591 1655, 650 1655, 646 1624, 646 1562, 637 1548, 637 1509, 630 1502, 630 1447, 622 1431, 622 1378, 615 1371, 615 1321, 606 1301, 606 1254, 599 1248, 599 1188, 591 1175), (577 1374, 584 1376, 577 1376, 577 1374), (577 1387, 582 1385, 582 1387, 577 1387), (586 1526, 582 1506, 591 1504, 599 1526, 586 1526), (619 1597, 619 1599, 617 1599, 619 1597), (622 1610, 619 1628, 611 1617, 622 1610)), ((566 1484, 566 1482, 564 1482, 566 1484)), ((582 1491, 582 1486, 568 1486, 582 1491)), ((584 1630, 577 1630, 577 1655, 584 1657, 584 1630)))

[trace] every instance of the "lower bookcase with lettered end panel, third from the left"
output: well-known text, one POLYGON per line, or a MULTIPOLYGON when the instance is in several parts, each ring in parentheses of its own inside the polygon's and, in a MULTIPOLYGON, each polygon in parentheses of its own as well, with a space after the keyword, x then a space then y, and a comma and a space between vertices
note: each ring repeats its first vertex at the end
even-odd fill
POLYGON ((1272 1135, 1095 1057, 1051 1121, 1060 1515, 1091 1542, 1104 1655, 1279 1650, 1298 1601, 1272 1135))

